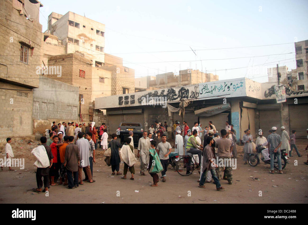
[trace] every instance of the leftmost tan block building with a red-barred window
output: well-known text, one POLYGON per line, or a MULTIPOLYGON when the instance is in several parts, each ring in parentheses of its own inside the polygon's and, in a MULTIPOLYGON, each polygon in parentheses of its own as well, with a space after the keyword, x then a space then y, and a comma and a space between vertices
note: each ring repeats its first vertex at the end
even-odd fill
POLYGON ((43 5, 31 2, 0 1, 0 138, 32 134, 32 89, 39 87, 35 67, 40 64, 39 8, 43 5), (29 9, 33 14, 27 13, 29 9))

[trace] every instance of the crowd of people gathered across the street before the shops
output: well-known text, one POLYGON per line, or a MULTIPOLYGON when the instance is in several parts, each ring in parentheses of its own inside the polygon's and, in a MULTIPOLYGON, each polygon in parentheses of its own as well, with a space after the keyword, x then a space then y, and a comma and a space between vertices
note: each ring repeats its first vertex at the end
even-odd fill
MULTIPOLYGON (((153 178, 152 187, 158 186, 158 182, 166 182, 167 168, 169 161, 169 154, 172 151, 172 146, 168 139, 167 133, 168 125, 164 122, 158 123, 155 121, 154 125, 147 131, 143 132, 143 136, 138 141, 137 158, 140 159, 140 175, 147 175, 146 171, 153 178), (158 173, 161 172, 161 177, 158 173)), ((216 184, 217 190, 222 190, 221 179, 225 179, 229 184, 233 184, 233 174, 231 165, 221 165, 214 161, 215 153, 219 159, 237 158, 237 138, 236 130, 233 124, 229 125, 226 121, 225 129, 216 130, 212 121, 209 121, 209 127, 201 128, 201 124, 194 123, 192 129, 189 129, 187 122, 183 121, 180 126, 178 121, 172 127, 174 131, 174 151, 179 155, 188 155, 196 164, 197 170, 200 170, 200 177, 197 180, 199 187, 205 188, 205 183, 212 182, 216 184), (201 141, 203 139, 203 142, 201 141), (223 176, 221 172, 224 171, 223 176)), ((292 130, 292 135, 288 135, 285 127, 281 127, 282 135, 276 133, 277 128, 272 127, 267 138, 263 136, 263 132, 259 133, 256 138, 256 143, 253 142, 253 136, 250 130, 245 130, 245 135, 240 138, 240 143, 244 145, 244 164, 247 164, 249 154, 253 153, 255 146, 267 146, 262 150, 261 154, 264 157, 264 162, 270 164, 270 173, 274 173, 274 157, 278 161, 279 174, 283 174, 281 165, 281 152, 286 151, 289 157, 292 157, 292 150, 295 149, 298 157, 301 155, 296 147, 296 131, 292 130)), ((308 133, 308 129, 306 131, 308 133)), ((95 163, 95 150, 98 143, 103 150, 110 148, 111 157, 110 164, 112 175, 122 175, 120 173, 120 155, 124 161, 124 176, 122 179, 127 179, 127 172, 131 173, 131 180, 134 180, 135 167, 137 162, 134 153, 133 131, 129 131, 129 137, 124 139, 124 144, 117 141, 117 135, 111 135, 111 141, 108 143, 107 127, 102 123, 100 127, 92 127, 92 123, 78 124, 74 122, 58 125, 53 122, 49 134, 41 137, 40 141, 46 150, 47 154, 43 154, 38 158, 39 161, 48 160, 50 162, 48 167, 38 167, 36 171, 37 188, 33 189, 35 192, 46 192, 50 186, 67 185, 68 189, 74 189, 83 185, 83 182, 94 183, 93 177, 93 163, 95 163), (100 141, 99 141, 100 140, 100 141), (121 149, 119 151, 119 149, 121 149), (45 157, 45 159, 44 159, 45 157), (82 176, 84 172, 84 179, 82 176), (43 179, 43 181, 42 181, 43 179), (58 183, 59 180, 59 183, 58 183), (44 184, 44 189, 43 188, 44 184)), ((308 139, 308 136, 307 136, 308 139)), ((6 139, 6 157, 12 159, 14 157, 10 143, 11 138, 6 139)), ((306 150, 308 145, 306 147, 306 150)), ((307 155, 308 157, 308 155, 307 155)), ((189 163, 191 161, 189 160, 189 163)), ((305 164, 308 165, 308 159, 305 164)), ((11 166, 11 165, 10 165, 11 166)), ((186 173, 189 171, 190 165, 187 165, 186 173)), ((1 165, 3 170, 3 165, 1 165)), ((13 171, 9 167, 10 171, 13 171)))

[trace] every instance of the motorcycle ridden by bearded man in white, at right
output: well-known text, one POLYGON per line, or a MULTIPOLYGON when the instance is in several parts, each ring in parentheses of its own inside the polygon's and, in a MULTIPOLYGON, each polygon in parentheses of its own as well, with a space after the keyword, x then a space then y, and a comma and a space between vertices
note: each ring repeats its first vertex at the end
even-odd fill
MULTIPOLYGON (((261 151, 264 150, 264 149, 265 149, 265 147, 263 147, 262 145, 258 145, 256 147, 257 152, 255 154, 252 153, 252 154, 249 155, 248 163, 249 163, 250 166, 256 167, 259 164, 260 159, 258 157, 258 154, 261 153, 261 151)), ((284 169, 286 167, 287 159, 288 159, 288 157, 287 157, 286 151, 281 151, 281 166, 282 166, 282 169, 284 169)), ((270 164, 270 162, 264 161, 264 157, 263 157, 262 153, 261 153, 261 160, 265 164, 270 164)), ((277 161, 276 156, 274 158, 274 167, 278 170, 278 161, 277 161)))

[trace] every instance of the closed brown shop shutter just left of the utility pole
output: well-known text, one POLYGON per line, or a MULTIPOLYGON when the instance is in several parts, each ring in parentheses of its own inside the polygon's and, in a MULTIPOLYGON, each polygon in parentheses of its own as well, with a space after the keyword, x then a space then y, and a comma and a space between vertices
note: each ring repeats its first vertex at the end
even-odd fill
POLYGON ((272 127, 277 127, 276 133, 281 135, 281 122, 279 110, 259 110, 260 129, 265 137, 268 136, 268 131, 272 127))

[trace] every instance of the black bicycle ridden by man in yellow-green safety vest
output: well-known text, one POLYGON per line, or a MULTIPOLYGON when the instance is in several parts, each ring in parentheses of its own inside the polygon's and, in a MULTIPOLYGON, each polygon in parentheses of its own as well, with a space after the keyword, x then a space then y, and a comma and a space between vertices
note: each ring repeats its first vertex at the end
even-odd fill
POLYGON ((191 175, 195 169, 200 169, 200 166, 195 167, 195 163, 197 165, 197 162, 193 157, 189 155, 183 155, 176 159, 175 169, 178 174, 182 176, 188 176, 191 175))

